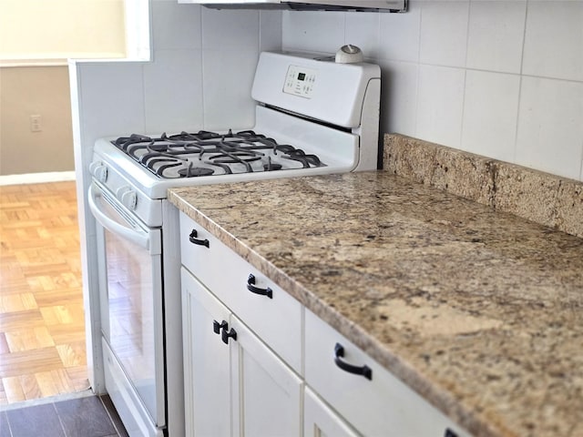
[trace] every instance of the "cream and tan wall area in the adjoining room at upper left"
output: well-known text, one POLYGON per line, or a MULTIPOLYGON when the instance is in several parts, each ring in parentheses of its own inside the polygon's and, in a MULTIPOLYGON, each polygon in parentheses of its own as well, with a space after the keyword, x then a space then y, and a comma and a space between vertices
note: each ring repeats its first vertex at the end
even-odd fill
POLYGON ((0 0, 0 176, 74 169, 66 58, 125 56, 124 5, 0 0))

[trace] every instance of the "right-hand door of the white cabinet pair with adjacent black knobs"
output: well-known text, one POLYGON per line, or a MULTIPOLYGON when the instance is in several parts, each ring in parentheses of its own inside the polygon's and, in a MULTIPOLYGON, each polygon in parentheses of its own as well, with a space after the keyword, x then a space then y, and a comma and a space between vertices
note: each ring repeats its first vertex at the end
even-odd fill
POLYGON ((302 435, 302 380, 251 330, 231 317, 235 433, 247 437, 302 435))

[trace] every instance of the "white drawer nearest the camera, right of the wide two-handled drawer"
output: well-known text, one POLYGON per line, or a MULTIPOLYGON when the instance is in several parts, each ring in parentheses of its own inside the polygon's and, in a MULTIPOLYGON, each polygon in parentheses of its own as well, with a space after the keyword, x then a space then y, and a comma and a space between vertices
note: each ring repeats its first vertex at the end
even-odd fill
POLYGON ((469 436, 310 310, 305 310, 305 380, 363 435, 469 436), (336 364, 336 344, 343 346, 339 360, 367 366, 370 380, 336 364))

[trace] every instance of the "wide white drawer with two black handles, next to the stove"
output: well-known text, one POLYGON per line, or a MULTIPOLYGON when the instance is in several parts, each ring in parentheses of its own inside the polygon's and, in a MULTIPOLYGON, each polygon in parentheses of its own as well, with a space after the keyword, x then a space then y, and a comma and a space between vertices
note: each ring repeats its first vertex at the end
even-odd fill
POLYGON ((183 213, 180 213, 180 256, 182 264, 225 306, 240 320, 245 320, 294 371, 301 372, 302 304, 299 301, 183 213), (251 281, 250 275, 254 278, 251 281), (268 288, 270 296, 258 294, 268 288))

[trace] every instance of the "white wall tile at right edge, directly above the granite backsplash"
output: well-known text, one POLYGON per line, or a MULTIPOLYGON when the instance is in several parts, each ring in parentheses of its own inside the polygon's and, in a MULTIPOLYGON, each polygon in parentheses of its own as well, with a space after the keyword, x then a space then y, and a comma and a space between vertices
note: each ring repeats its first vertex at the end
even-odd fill
POLYGON ((583 83, 522 78, 517 162, 580 178, 583 153, 583 83))

